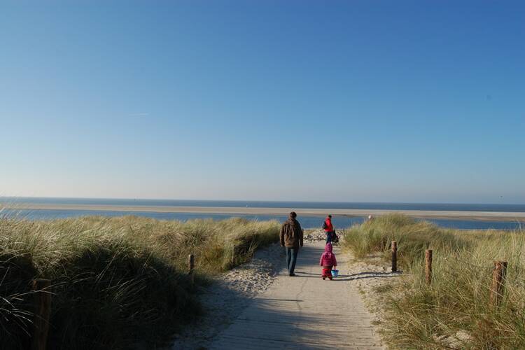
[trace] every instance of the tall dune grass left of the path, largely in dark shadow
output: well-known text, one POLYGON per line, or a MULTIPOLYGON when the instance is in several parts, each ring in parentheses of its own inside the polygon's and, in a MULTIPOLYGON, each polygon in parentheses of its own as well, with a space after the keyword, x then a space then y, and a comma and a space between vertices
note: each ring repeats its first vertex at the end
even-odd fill
POLYGON ((0 348, 27 349, 31 281, 52 280, 49 349, 167 344, 202 311, 197 284, 278 241, 276 221, 158 221, 126 216, 55 221, 0 219, 0 348))

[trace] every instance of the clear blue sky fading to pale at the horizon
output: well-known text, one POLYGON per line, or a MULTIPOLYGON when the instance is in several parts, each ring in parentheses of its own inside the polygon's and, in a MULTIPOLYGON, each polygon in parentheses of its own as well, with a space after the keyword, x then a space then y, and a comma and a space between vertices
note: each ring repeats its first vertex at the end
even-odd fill
POLYGON ((525 203, 525 1, 1 1, 0 195, 525 203))

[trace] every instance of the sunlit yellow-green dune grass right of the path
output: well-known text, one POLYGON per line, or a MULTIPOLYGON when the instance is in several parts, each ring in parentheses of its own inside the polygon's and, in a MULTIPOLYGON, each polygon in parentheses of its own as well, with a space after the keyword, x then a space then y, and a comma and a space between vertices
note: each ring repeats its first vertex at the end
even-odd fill
POLYGON ((357 257, 383 253, 398 241, 407 272, 392 288, 381 325, 393 349, 523 349, 525 232, 445 230, 401 215, 374 218, 347 231, 343 245, 357 257), (433 249, 433 281, 424 280, 424 251, 433 249), (489 295, 494 260, 508 262, 501 307, 489 295))

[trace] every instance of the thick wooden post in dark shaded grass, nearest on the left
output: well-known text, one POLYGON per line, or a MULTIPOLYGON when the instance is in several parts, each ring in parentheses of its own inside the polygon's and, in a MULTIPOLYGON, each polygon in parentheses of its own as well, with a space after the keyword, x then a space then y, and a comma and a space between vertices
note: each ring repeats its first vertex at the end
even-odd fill
POLYGON ((45 350, 48 344, 49 319, 51 316, 51 293, 48 279, 33 281, 35 314, 34 333, 31 341, 32 350, 45 350))

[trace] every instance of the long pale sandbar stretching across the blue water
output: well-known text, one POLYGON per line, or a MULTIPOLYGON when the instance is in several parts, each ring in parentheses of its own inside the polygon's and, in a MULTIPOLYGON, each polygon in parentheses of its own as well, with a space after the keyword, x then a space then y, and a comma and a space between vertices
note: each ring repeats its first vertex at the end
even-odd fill
POLYGON ((148 213, 182 214, 226 214, 226 215, 279 215, 286 216, 295 211, 298 216, 366 217, 389 213, 405 214, 414 218, 442 218, 477 221, 525 221, 525 212, 510 211, 429 211, 429 210, 384 210, 384 209, 293 209, 293 208, 252 208, 252 207, 174 207, 174 206, 120 206, 99 204, 8 204, 0 203, 1 209, 9 210, 82 210, 82 211, 125 211, 148 213))

